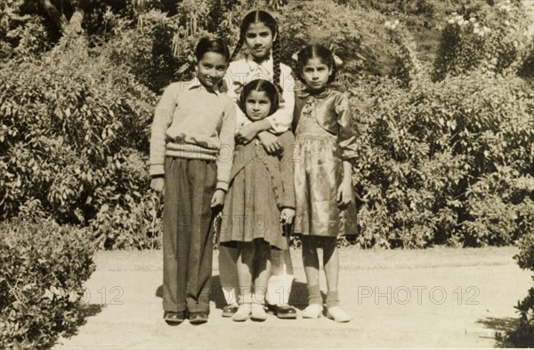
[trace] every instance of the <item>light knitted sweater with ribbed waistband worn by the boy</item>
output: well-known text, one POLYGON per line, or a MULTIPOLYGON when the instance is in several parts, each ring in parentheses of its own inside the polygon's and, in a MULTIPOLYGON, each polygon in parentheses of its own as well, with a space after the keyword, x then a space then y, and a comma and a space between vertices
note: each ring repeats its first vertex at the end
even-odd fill
POLYGON ((170 84, 159 100, 150 137, 150 175, 164 174, 165 156, 214 160, 218 189, 228 190, 236 111, 226 94, 198 78, 170 84))

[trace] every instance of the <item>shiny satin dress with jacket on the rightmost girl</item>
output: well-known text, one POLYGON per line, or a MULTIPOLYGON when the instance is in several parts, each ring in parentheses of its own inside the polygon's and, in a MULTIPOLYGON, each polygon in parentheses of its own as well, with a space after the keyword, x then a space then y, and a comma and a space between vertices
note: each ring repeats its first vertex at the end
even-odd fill
POLYGON ((340 210, 336 198, 342 162, 353 158, 357 148, 348 98, 333 89, 298 92, 295 125, 295 234, 355 235, 354 201, 340 210))

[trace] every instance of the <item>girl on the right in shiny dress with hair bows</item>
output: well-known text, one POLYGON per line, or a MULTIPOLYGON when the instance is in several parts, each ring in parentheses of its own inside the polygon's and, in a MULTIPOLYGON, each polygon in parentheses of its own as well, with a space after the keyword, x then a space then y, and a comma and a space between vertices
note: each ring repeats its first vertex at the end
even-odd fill
POLYGON ((351 317, 339 306, 337 235, 340 217, 345 233, 355 233, 352 165, 356 137, 349 99, 329 85, 336 76, 334 55, 324 46, 307 46, 297 55, 297 74, 305 89, 296 93, 294 125, 299 147, 295 162, 295 234, 303 243, 303 266, 308 282, 308 306, 303 318, 323 312, 319 286, 318 248, 323 251, 327 277, 327 316, 336 322, 351 317))

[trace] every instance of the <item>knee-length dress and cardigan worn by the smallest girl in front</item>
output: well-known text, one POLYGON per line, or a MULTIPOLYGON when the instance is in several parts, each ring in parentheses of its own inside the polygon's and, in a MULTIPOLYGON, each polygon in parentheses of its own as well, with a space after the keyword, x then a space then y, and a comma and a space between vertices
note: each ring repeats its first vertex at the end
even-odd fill
POLYGON ((279 143, 283 146, 280 155, 267 155, 257 139, 236 146, 220 224, 220 242, 252 242, 263 238, 280 250, 287 250, 280 211, 295 208, 293 133, 281 134, 279 143))

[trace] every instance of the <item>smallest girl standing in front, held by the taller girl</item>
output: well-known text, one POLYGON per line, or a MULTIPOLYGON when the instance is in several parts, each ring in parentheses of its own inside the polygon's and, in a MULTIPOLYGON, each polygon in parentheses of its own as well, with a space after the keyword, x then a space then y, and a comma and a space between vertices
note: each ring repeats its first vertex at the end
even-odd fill
MULTIPOLYGON (((251 122, 263 120, 279 107, 274 84, 257 79, 245 85, 239 107, 251 122)), ((294 137, 278 137, 282 152, 268 155, 259 139, 239 144, 234 153, 231 182, 223 207, 221 243, 237 243, 239 308, 233 321, 264 321, 265 293, 271 275, 271 245, 287 250, 282 225, 295 216, 293 188, 294 137), (254 293, 253 293, 254 285, 254 293)))

